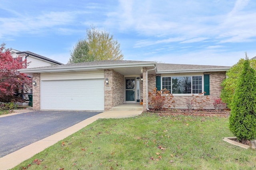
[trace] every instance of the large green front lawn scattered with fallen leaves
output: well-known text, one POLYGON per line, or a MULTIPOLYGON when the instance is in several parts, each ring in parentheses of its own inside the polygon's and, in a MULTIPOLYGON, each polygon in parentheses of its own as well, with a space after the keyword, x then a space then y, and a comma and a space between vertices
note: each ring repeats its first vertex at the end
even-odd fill
POLYGON ((256 151, 222 141, 230 136, 225 117, 99 119, 12 170, 255 169, 256 151))

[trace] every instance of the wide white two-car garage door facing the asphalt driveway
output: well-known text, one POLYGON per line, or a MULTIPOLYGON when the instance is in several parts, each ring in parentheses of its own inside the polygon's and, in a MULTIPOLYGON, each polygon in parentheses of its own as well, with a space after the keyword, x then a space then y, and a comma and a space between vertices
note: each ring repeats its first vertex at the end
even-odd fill
POLYGON ((41 109, 104 110, 104 80, 42 81, 41 109))

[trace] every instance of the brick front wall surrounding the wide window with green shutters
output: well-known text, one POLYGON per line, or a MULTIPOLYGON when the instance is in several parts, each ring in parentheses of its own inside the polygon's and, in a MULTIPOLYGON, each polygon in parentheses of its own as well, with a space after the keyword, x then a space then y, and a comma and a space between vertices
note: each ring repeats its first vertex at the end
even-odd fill
MULTIPOLYGON (((210 74, 210 102, 206 108, 213 108, 213 98, 220 98, 220 93, 222 90, 222 86, 220 84, 226 78, 226 72, 206 72, 204 74, 210 74)), ((148 92, 151 91, 156 86, 156 76, 160 75, 148 75, 148 92)), ((174 106, 176 108, 187 108, 186 107, 186 98, 192 95, 187 96, 174 96, 173 100, 175 100, 174 106)), ((206 96, 200 96, 199 99, 206 99, 206 96)), ((195 108, 195 107, 194 107, 195 108)))

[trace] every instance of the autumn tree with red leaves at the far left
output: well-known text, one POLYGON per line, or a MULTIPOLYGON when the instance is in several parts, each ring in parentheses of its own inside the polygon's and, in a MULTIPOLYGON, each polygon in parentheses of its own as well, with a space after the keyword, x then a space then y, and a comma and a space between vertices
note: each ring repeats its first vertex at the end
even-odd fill
POLYGON ((28 74, 18 72, 26 67, 22 57, 13 58, 11 49, 6 49, 5 43, 0 45, 0 102, 10 102, 14 94, 22 90, 22 85, 31 86, 28 74))

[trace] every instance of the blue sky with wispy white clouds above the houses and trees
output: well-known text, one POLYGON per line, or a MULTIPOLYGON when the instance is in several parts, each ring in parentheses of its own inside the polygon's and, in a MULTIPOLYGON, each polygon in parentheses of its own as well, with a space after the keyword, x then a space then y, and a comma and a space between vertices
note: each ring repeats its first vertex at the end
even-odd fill
POLYGON ((256 56, 254 0, 1 0, 0 43, 66 64, 94 24, 124 60, 232 66, 256 56))

